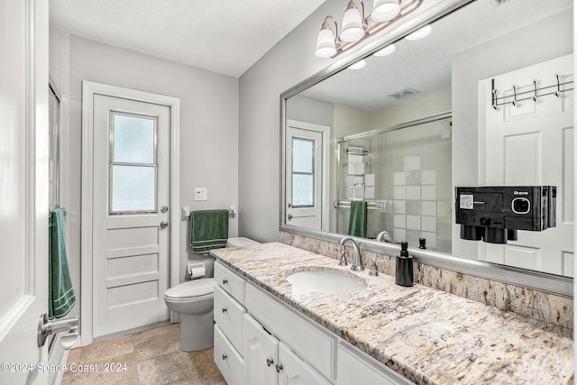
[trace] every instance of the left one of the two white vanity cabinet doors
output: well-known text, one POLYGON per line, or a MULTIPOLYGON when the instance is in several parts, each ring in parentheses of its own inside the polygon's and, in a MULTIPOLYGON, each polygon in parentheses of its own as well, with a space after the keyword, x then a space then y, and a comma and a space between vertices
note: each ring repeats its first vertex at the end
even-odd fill
POLYGON ((251 385, 276 385, 279 340, 270 335, 252 316, 244 315, 244 375, 251 385))

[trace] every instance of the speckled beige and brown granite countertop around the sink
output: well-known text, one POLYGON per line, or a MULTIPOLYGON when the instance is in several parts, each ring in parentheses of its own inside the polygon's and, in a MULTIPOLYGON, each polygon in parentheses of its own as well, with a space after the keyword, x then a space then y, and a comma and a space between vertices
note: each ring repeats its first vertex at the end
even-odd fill
POLYGON ((211 252, 290 307, 418 384, 573 382, 572 330, 422 285, 395 284, 284 243, 211 252), (347 295, 293 293, 295 270, 334 270, 367 284, 347 295))

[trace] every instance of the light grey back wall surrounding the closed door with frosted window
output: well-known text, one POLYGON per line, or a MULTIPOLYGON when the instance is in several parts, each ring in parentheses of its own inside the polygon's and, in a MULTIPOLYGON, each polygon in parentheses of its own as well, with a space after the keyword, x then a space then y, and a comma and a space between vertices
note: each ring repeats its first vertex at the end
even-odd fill
MULTIPOLYGON (((69 79, 69 90, 61 92, 69 92, 69 260, 73 284, 79 291, 82 81, 180 98, 180 205, 195 210, 238 206, 238 79, 77 36, 69 37, 69 59, 66 55, 62 59, 55 51, 61 50, 66 35, 52 32, 50 41, 55 42, 50 47, 50 69, 60 84, 69 79), (67 66, 69 73, 63 74, 61 69, 67 66), (208 188, 207 201, 193 200, 195 187, 208 188)), ((173 230, 180 232, 182 281, 190 258, 189 222, 173 225, 173 230)), ((238 219, 232 219, 229 235, 237 234, 238 219)), ((75 312, 78 314, 78 307, 75 312)))

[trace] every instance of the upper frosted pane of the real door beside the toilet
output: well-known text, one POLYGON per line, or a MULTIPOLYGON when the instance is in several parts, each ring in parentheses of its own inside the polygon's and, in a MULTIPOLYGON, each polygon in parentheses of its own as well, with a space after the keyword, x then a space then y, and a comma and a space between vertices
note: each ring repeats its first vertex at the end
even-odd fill
POLYGON ((113 161, 154 163, 155 119, 113 115, 113 161))

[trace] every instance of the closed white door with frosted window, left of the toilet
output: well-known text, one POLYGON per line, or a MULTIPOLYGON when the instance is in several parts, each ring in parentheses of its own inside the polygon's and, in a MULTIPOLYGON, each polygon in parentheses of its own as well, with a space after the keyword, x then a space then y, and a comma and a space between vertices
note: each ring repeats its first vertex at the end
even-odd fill
POLYGON ((93 337, 169 319, 170 107, 94 96, 93 337))

